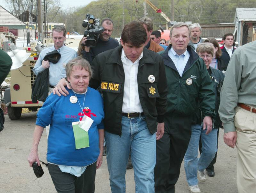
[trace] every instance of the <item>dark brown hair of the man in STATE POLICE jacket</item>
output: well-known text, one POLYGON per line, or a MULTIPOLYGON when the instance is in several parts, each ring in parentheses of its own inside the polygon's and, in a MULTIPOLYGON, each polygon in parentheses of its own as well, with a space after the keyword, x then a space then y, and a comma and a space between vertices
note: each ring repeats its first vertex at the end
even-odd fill
POLYGON ((124 26, 121 34, 123 43, 139 47, 147 40, 147 32, 144 26, 138 21, 132 21, 124 26))

